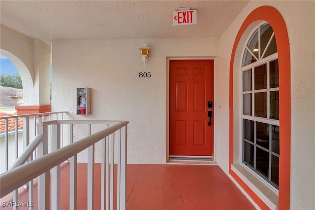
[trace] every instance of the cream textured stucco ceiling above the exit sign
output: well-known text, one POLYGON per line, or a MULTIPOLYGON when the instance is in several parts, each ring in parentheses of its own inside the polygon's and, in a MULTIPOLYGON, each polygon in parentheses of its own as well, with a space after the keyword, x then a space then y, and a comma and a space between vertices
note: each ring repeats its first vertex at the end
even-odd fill
POLYGON ((1 0, 0 23, 42 39, 219 37, 248 1, 1 0), (173 26, 173 11, 197 10, 197 25, 173 26))

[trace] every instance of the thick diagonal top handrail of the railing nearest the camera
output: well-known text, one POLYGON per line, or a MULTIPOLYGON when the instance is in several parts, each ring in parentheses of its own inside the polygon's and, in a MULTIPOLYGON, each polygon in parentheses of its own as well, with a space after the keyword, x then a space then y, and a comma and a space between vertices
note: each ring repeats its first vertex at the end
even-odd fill
POLYGON ((105 128, 91 136, 75 141, 69 145, 64 146, 63 148, 52 151, 51 153, 48 153, 38 159, 32 160, 31 162, 1 174, 1 197, 7 195, 14 189, 17 189, 37 176, 48 172, 50 169, 63 163, 73 155, 78 154, 97 141, 102 140, 106 136, 109 136, 117 130, 125 127, 128 123, 128 121, 118 122, 117 124, 105 128))

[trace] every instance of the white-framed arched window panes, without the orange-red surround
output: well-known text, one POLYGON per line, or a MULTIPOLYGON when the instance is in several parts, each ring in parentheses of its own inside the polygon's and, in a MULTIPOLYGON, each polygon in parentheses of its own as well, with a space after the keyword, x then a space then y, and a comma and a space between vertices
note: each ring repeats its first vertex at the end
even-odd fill
POLYGON ((242 163, 279 189, 279 68, 268 23, 254 29, 241 66, 242 163))

